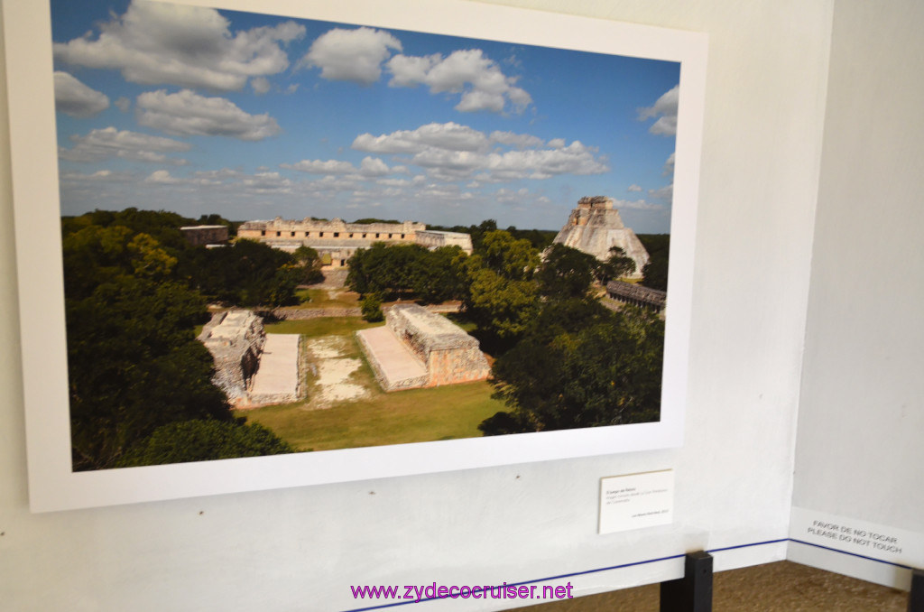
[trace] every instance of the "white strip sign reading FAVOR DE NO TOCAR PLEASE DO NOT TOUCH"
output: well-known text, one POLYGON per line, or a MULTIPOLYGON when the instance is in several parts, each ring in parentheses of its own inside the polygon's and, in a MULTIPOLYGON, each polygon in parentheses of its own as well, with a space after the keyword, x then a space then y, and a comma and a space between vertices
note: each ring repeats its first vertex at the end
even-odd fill
POLYGON ((789 537, 812 545, 918 567, 924 564, 924 533, 850 519, 806 508, 793 508, 789 537))

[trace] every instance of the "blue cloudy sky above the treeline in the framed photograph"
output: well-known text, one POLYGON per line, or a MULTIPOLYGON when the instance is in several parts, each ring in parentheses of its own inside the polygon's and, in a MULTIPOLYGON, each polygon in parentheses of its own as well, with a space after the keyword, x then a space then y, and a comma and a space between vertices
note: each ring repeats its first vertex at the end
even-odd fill
POLYGON ((62 214, 128 206, 670 229, 675 62, 141 0, 52 0, 62 214))

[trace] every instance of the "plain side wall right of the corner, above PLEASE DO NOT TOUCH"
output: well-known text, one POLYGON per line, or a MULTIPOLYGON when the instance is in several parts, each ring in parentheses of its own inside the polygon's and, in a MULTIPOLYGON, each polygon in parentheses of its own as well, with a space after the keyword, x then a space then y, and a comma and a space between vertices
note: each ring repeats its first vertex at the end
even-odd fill
MULTIPOLYGON (((924 5, 838 2, 793 505, 924 533, 924 5)), ((922 537, 924 544, 924 537, 922 537)), ((924 563, 924 546, 918 552, 924 563)))

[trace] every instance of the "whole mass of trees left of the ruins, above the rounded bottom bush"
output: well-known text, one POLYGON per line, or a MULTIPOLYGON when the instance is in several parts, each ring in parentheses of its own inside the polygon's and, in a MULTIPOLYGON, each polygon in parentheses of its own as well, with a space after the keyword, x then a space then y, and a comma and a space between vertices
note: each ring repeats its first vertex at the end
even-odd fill
POLYGON ((212 355, 195 337, 206 299, 286 303, 305 273, 291 255, 255 242, 193 247, 179 230, 190 223, 133 208, 62 219, 77 471, 114 467, 170 423, 231 422, 212 384, 212 355))

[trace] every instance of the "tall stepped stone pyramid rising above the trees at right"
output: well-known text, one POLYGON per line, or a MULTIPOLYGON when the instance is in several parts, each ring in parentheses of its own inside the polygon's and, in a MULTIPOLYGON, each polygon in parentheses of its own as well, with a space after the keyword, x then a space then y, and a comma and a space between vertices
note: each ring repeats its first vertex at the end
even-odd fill
POLYGON ((641 278, 641 270, 649 262, 648 251, 635 232, 623 225, 614 204, 613 198, 606 196, 581 198, 553 242, 590 253, 599 260, 610 256, 611 247, 619 247, 636 263, 635 272, 628 277, 641 278))

